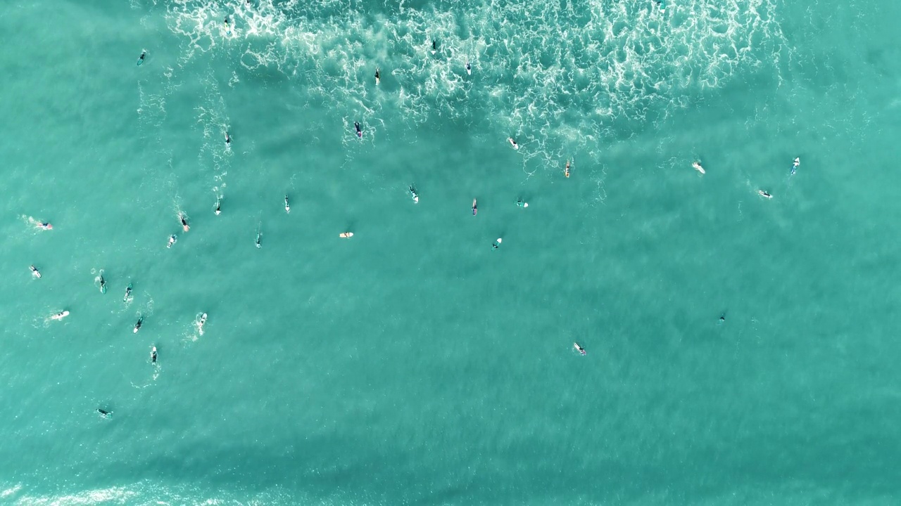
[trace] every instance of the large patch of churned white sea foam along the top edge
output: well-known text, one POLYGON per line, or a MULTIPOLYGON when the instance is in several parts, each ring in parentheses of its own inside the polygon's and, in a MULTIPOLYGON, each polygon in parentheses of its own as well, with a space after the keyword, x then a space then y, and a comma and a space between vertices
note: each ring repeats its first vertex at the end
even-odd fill
POLYGON ((278 69, 298 78, 296 86, 334 121, 364 124, 364 140, 387 125, 477 118, 493 136, 521 140, 525 161, 553 170, 566 153, 593 158, 593 146, 612 134, 609 123, 665 117, 742 69, 778 71, 787 51, 772 0, 694 0, 666 12, 652 2, 603 0, 583 8, 551 0, 361 8, 333 0, 227 8, 177 0, 168 23, 185 38, 183 63, 222 46, 247 71, 278 69))

